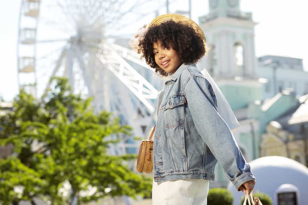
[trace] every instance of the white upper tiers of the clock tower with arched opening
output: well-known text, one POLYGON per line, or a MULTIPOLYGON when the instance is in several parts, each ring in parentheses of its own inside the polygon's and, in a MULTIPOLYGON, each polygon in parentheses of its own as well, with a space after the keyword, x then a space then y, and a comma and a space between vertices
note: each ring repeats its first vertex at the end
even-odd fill
POLYGON ((210 47, 200 66, 213 78, 257 78, 256 23, 240 10, 239 0, 209 0, 209 14, 199 17, 199 25, 210 47))

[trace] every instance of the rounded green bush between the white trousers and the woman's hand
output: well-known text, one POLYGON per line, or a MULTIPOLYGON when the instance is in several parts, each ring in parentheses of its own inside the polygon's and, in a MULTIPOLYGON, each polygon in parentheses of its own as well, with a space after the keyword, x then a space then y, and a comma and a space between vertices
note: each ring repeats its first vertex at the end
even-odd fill
POLYGON ((213 188, 209 190, 208 204, 210 205, 232 205, 233 196, 230 191, 225 188, 213 188))

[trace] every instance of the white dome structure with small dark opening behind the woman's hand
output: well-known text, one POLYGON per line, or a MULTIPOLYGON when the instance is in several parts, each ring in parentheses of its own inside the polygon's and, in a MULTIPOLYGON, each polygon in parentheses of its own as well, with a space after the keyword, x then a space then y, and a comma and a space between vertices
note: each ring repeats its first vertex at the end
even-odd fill
MULTIPOLYGON (((278 205, 278 198, 289 202, 286 204, 308 204, 308 168, 303 164, 286 157, 267 156, 253 160, 249 165, 256 177, 254 190, 268 194, 273 205, 278 205)), ((234 205, 240 205, 244 193, 237 191, 231 182, 227 188, 234 197, 234 205)))

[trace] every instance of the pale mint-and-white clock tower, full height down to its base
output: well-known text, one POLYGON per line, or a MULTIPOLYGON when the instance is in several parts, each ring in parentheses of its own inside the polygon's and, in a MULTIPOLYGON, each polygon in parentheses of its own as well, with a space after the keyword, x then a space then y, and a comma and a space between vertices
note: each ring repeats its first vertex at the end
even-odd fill
MULTIPOLYGON (((239 0, 209 0, 209 14, 199 17, 209 47, 198 62, 201 73, 208 71, 230 104, 241 125, 233 135, 245 159, 259 156, 259 111, 266 80, 258 77, 251 13, 240 10, 239 0)), ((218 107, 221 106, 219 103, 218 107)), ((220 164, 215 168, 212 187, 229 183, 220 164)))

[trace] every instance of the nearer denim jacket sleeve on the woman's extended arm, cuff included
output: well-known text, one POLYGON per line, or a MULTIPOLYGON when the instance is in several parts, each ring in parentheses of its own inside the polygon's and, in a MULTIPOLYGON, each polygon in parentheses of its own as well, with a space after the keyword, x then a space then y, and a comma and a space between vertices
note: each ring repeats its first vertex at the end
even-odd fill
POLYGON ((255 180, 233 133, 221 118, 215 93, 205 77, 192 76, 184 85, 188 108, 197 132, 209 147, 234 187, 255 180))

